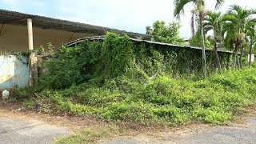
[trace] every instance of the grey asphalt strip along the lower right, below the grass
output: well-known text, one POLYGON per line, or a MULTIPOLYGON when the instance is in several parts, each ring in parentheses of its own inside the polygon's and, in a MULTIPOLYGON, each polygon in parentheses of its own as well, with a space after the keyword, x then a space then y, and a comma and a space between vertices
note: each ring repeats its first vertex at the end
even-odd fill
POLYGON ((120 137, 102 143, 256 144, 256 118, 247 118, 244 125, 216 126, 210 129, 194 130, 185 136, 166 134, 157 140, 154 138, 120 137))

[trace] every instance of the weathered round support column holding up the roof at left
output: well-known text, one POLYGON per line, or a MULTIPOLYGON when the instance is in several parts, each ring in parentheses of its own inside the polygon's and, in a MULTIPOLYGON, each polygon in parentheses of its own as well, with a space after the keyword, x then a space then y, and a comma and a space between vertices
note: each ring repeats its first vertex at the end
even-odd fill
POLYGON ((32 19, 27 19, 27 30, 28 30, 28 42, 30 50, 30 86, 38 84, 38 63, 37 63, 37 54, 33 51, 33 26, 32 19))

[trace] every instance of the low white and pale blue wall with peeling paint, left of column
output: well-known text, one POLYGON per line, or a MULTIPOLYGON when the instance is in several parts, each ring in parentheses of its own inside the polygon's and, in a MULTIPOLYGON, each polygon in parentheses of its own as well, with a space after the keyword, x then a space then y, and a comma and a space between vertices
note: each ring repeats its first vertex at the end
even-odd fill
POLYGON ((24 88, 30 82, 28 58, 14 55, 0 55, 0 91, 12 87, 24 88))

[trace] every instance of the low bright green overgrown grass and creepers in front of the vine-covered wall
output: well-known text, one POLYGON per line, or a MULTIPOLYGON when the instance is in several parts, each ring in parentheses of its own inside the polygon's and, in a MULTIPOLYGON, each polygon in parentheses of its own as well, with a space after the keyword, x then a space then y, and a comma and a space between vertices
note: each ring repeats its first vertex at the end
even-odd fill
POLYGON ((82 84, 43 90, 24 106, 53 113, 86 114, 107 122, 186 125, 225 124, 256 104, 256 69, 226 71, 205 80, 158 76, 149 83, 118 77, 102 87, 82 84), (43 108, 42 108, 43 107, 43 108))

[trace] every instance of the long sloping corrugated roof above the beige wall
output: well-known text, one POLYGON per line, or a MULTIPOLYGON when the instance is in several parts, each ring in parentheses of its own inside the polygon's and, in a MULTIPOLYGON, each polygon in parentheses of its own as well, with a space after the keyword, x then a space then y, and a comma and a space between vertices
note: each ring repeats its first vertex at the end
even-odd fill
POLYGON ((40 27, 42 29, 65 30, 74 33, 90 33, 98 35, 106 34, 107 31, 110 31, 118 34, 127 34, 133 38, 150 37, 147 34, 138 34, 109 27, 94 26, 86 23, 71 22, 57 18, 48 18, 34 14, 23 14, 16 11, 0 9, 0 23, 26 26, 27 18, 32 18, 33 26, 40 27))

